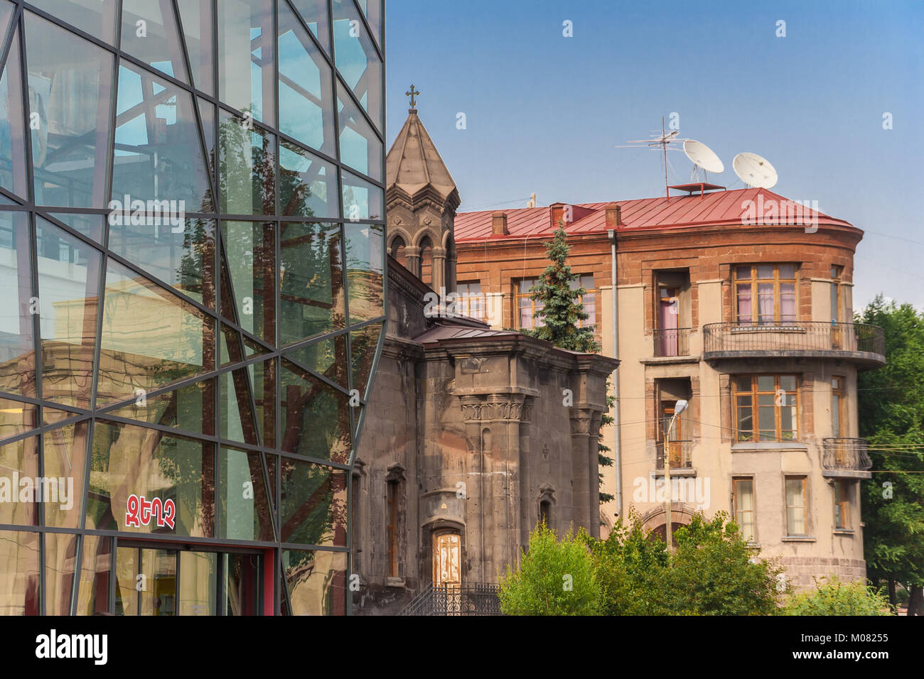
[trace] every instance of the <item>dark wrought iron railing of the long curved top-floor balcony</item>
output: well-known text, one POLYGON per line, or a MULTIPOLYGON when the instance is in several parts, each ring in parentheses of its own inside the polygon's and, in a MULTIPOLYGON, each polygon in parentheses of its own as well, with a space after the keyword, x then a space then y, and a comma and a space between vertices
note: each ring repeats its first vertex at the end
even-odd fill
POLYGON ((705 354, 752 351, 864 351, 880 356, 885 354, 885 333, 881 327, 863 323, 709 323, 702 330, 705 354))

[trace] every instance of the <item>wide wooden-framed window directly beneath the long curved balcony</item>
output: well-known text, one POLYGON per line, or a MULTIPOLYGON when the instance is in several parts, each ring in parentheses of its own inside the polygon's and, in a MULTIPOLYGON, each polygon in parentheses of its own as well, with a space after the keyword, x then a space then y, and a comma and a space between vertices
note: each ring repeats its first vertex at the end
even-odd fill
POLYGON ((795 375, 742 375, 735 378, 734 385, 739 442, 796 441, 795 375))

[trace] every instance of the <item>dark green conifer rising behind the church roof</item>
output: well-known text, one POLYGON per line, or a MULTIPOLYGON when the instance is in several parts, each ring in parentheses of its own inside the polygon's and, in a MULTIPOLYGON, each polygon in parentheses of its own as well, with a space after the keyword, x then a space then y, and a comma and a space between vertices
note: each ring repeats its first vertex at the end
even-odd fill
POLYGON ((535 316, 543 325, 522 332, 562 349, 598 352, 600 345, 593 338, 593 328, 577 327, 577 321, 587 321, 590 317, 577 301, 587 290, 571 286, 577 281, 577 273, 571 273, 571 267, 565 263, 570 250, 565 228, 559 222, 553 240, 545 244, 545 253, 552 263, 542 272, 539 283, 529 290, 537 306, 542 305, 535 316))

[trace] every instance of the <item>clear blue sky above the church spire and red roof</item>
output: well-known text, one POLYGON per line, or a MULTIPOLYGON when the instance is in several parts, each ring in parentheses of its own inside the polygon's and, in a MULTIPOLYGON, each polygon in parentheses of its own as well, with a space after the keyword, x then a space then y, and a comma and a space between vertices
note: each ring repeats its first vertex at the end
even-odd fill
POLYGON ((774 191, 866 231, 855 308, 924 307, 924 2, 390 0, 386 21, 388 143, 413 82, 460 210, 661 195, 659 154, 615 145, 676 112, 722 158, 711 180, 740 188, 732 158, 760 153, 774 191))

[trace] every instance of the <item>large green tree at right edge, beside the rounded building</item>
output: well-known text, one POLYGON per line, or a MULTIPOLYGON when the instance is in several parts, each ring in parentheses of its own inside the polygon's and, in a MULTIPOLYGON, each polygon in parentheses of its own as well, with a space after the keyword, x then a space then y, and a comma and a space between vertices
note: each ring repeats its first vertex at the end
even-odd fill
POLYGON ((924 614, 924 313, 881 296, 857 321, 885 330, 887 363, 859 373, 859 430, 873 477, 863 484, 868 576, 910 592, 908 614, 924 614), (876 450, 876 449, 879 450, 876 450), (884 449, 884 450, 883 450, 884 449))

